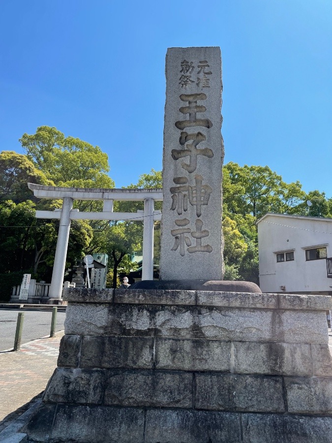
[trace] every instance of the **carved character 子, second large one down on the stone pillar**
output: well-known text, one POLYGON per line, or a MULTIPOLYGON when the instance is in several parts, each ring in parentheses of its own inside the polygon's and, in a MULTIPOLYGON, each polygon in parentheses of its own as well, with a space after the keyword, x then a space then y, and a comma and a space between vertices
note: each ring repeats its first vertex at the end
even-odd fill
POLYGON ((172 149, 172 158, 178 160, 179 158, 189 156, 189 164, 182 161, 181 167, 189 173, 194 172, 197 167, 197 156, 205 156, 208 158, 213 157, 213 152, 210 148, 197 149, 196 146, 202 141, 206 140, 206 136, 201 132, 196 134, 188 134, 187 132, 181 132, 180 144, 182 146, 188 140, 192 140, 192 143, 186 145, 186 149, 172 149))

